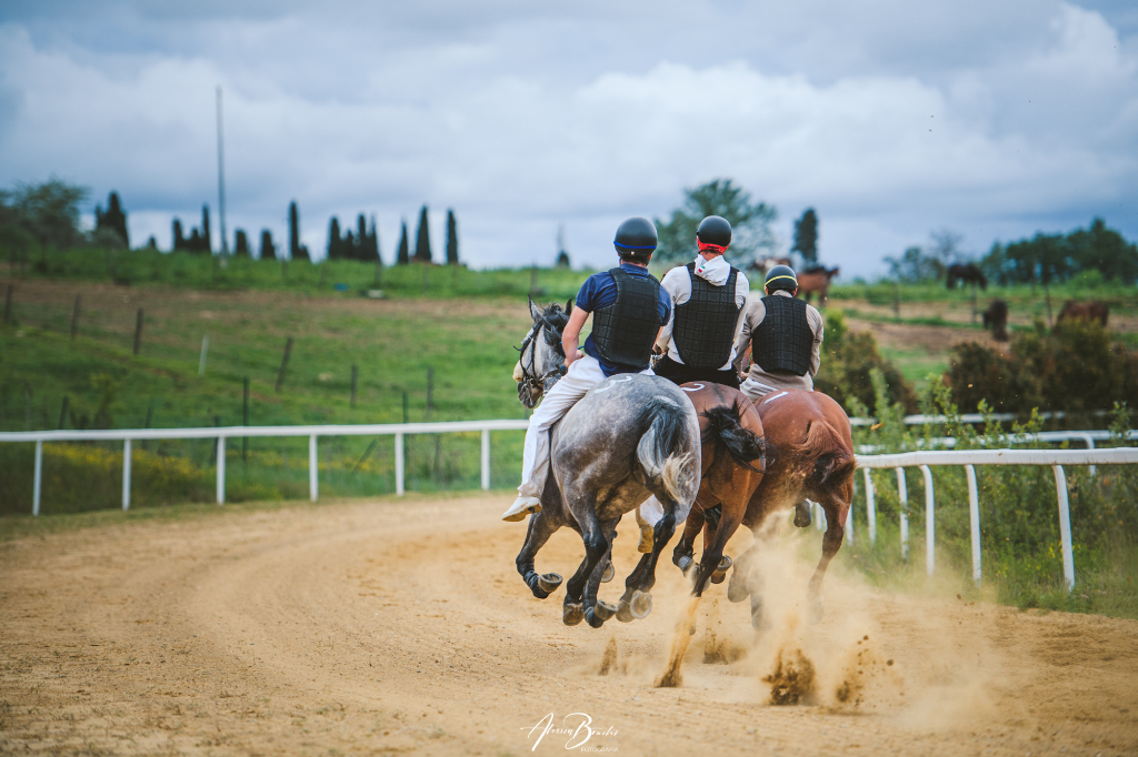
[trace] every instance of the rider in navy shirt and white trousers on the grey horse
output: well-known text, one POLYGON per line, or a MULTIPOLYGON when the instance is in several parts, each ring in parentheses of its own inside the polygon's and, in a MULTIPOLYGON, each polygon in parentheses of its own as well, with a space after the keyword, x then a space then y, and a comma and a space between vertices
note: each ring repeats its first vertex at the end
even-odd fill
POLYGON ((619 373, 652 375, 649 364, 660 326, 671 316, 671 298, 649 272, 657 247, 655 226, 648 218, 629 218, 613 240, 620 266, 589 276, 577 293, 576 307, 561 336, 568 371, 534 410, 526 431, 518 499, 503 521, 522 521, 542 510, 542 491, 550 467, 550 427, 589 389, 619 373), (593 333, 584 355, 577 343, 593 313, 593 333))

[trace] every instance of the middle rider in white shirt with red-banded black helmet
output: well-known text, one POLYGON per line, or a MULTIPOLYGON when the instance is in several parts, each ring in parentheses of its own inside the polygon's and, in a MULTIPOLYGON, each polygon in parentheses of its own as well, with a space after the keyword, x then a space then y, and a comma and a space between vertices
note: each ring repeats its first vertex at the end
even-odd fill
POLYGON ((724 258, 731 246, 731 223, 708 216, 695 231, 699 253, 693 263, 669 271, 660 285, 675 303, 671 321, 657 347, 666 355, 654 371, 677 384, 707 381, 739 389, 732 367, 735 336, 742 323, 750 282, 724 258))

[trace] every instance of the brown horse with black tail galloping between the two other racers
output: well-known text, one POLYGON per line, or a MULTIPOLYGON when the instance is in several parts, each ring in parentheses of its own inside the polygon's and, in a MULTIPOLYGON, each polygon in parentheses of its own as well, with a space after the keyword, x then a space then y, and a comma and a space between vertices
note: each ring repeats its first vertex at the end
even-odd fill
POLYGON ((762 481, 765 442, 758 410, 737 389, 708 382, 691 382, 679 388, 700 418, 702 477, 671 561, 685 573, 694 565, 692 551, 702 530, 703 556, 693 590, 699 597, 708 580, 721 583, 731 568, 731 558, 723 550, 743 522, 747 504, 762 481))

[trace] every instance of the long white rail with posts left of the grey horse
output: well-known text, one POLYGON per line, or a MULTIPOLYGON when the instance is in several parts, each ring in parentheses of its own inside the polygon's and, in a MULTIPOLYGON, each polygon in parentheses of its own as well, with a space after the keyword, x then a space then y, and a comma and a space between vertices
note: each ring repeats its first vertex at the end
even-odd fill
POLYGON ((154 439, 216 439, 217 440, 217 504, 225 504, 225 440, 241 436, 307 436, 308 438, 308 497, 320 496, 316 440, 320 436, 395 436, 395 493, 404 493, 404 436, 407 434, 446 434, 481 432, 481 484, 490 488, 490 432, 525 431, 528 419, 521 421, 454 421, 440 423, 380 423, 324 426, 224 426, 215 429, 114 429, 100 431, 3 431, 0 442, 34 442, 35 472, 32 483, 32 515, 40 514, 43 480, 43 443, 66 441, 122 441, 123 442, 123 509, 131 507, 131 449, 132 442, 154 439))

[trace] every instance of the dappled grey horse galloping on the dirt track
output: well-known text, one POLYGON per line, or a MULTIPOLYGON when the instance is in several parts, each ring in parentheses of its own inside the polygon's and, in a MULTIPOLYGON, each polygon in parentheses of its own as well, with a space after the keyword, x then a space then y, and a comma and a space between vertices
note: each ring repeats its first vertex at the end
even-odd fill
MULTIPOLYGON (((534 326, 521 347, 516 369, 518 396, 533 407, 564 375, 561 332, 572 305, 544 310, 529 303, 534 326)), ((691 510, 700 488, 700 426, 695 408, 670 381, 618 374, 594 386, 550 430, 550 465, 542 511, 529 518, 526 543, 518 554, 518 573, 538 599, 561 584, 555 573, 538 575, 534 557, 561 526, 577 531, 585 559, 566 584, 566 625, 588 621, 594 629, 618 615, 645 617, 655 565, 676 524, 691 510), (617 523, 655 494, 665 515, 645 555, 625 582, 619 606, 599 600, 602 575, 610 568, 617 523)))

